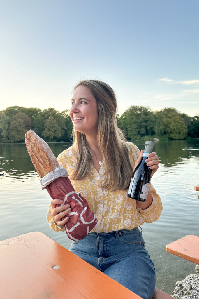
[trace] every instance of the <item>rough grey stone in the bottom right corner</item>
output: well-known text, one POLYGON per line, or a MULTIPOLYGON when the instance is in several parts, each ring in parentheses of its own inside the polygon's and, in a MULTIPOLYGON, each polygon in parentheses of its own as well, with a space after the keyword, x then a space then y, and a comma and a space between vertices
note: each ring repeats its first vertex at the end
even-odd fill
POLYGON ((199 275, 190 274, 177 281, 171 295, 176 299, 199 299, 199 275))

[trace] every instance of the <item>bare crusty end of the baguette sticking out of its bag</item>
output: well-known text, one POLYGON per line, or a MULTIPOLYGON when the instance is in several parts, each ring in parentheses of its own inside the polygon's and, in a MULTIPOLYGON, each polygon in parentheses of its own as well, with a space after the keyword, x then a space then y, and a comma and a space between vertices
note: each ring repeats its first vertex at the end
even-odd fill
POLYGON ((48 144, 33 130, 26 133, 25 140, 28 153, 40 178, 59 167, 48 144))

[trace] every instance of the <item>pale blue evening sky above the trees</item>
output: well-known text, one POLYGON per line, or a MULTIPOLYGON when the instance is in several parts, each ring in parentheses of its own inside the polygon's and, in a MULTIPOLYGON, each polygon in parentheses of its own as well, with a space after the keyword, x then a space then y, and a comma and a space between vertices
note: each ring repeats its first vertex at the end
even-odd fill
POLYGON ((199 113, 198 0, 0 0, 0 110, 70 109, 81 79, 129 106, 199 113))

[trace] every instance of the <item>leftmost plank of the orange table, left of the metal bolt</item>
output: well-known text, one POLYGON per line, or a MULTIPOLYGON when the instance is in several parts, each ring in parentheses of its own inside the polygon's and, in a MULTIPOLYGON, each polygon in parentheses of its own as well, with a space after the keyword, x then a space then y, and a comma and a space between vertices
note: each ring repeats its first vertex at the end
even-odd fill
POLYGON ((64 279, 17 237, 0 242, 0 269, 1 298, 55 298, 55 291, 57 298, 72 296, 64 279))

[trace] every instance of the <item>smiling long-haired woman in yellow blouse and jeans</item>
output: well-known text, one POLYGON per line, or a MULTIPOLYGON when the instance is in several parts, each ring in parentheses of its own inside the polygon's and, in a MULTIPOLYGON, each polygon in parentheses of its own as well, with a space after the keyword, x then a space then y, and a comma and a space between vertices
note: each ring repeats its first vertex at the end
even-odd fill
MULTIPOLYGON (((70 251, 144 299, 155 289, 154 263, 144 248, 139 225, 156 221, 161 200, 150 186, 146 202, 127 197, 133 170, 143 155, 125 140, 116 125, 114 91, 104 82, 83 80, 73 92, 70 117, 73 145, 59 156, 77 192, 87 199, 98 223, 87 237, 72 242, 70 251)), ((158 169, 155 152, 146 160, 152 175, 158 169)), ((64 231, 71 209, 51 201, 47 219, 54 231, 64 231)))

